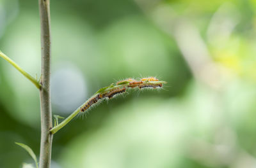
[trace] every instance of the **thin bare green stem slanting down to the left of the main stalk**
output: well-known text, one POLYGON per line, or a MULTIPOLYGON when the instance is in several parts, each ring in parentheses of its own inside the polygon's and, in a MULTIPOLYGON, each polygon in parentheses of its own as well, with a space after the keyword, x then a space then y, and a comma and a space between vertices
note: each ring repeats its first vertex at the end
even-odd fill
POLYGON ((20 73, 22 73, 29 81, 31 81, 38 89, 41 89, 42 85, 33 78, 30 74, 26 73, 20 66, 18 66, 12 59, 10 59, 7 55, 0 51, 0 57, 4 60, 8 61, 13 67, 15 67, 20 73))

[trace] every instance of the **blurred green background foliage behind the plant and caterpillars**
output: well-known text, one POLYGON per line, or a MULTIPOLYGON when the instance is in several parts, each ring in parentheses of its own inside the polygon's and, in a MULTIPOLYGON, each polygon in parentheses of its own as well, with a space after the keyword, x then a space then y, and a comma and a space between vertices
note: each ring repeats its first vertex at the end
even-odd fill
MULTIPOLYGON (((52 113, 100 87, 163 90, 102 102, 54 135, 52 168, 256 167, 255 0, 51 0, 52 113)), ((38 2, 0 0, 0 49, 40 76, 38 2)), ((0 59, 0 167, 39 155, 38 90, 0 59)))

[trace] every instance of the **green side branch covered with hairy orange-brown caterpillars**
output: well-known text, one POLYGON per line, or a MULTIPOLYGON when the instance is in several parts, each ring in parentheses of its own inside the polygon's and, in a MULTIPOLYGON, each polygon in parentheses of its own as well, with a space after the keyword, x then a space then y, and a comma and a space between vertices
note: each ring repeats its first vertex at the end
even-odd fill
POLYGON ((113 83, 109 85, 109 87, 100 88, 95 94, 93 94, 90 99, 88 99, 84 104, 82 104, 79 108, 77 108, 70 116, 68 116, 63 122, 61 122, 59 125, 54 126, 50 132, 51 134, 55 134, 63 128, 67 123, 69 123, 75 116, 77 116, 79 113, 86 113, 86 111, 94 106, 95 104, 99 104, 100 101, 104 99, 111 99, 114 95, 122 94, 126 90, 132 89, 132 88, 161 88, 163 87, 163 84, 166 84, 166 81, 158 81, 156 78, 143 78, 140 81, 135 81, 131 78, 124 81, 119 81, 114 86, 113 83), (146 79, 146 80, 143 80, 146 79), (151 81, 150 81, 151 79, 151 81))

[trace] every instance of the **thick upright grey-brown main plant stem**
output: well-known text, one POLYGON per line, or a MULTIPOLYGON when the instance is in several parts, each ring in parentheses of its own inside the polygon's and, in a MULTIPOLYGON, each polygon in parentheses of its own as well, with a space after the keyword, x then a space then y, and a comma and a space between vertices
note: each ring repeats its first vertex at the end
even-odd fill
POLYGON ((51 28, 50 28, 50 1, 38 0, 41 21, 41 144, 40 168, 49 168, 51 165, 52 127, 51 111, 51 28))

